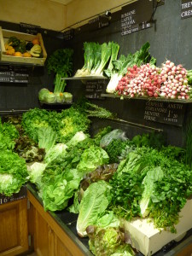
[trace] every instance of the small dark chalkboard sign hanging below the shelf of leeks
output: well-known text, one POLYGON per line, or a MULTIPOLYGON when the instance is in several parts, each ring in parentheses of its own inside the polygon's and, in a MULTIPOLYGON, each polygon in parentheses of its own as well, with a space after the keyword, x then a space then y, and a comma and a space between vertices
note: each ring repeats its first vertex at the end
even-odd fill
POLYGON ((104 99, 101 96, 108 84, 108 80, 87 80, 85 84, 85 97, 90 99, 104 99))

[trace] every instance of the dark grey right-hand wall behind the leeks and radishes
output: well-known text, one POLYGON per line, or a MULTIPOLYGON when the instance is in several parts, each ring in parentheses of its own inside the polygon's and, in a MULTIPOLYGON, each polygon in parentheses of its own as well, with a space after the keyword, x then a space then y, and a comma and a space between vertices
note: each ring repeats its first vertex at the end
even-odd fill
MULTIPOLYGON (((120 11, 112 15, 111 24, 102 29, 91 28, 91 25, 81 27, 80 31, 75 32, 75 37, 66 43, 74 48, 74 72, 83 67, 83 44, 84 42, 108 42, 114 41, 120 45, 119 55, 134 53, 145 44, 150 43, 150 53, 157 59, 157 66, 166 59, 173 61, 176 65, 183 64, 187 69, 192 68, 192 48, 191 48, 191 30, 192 18, 181 20, 180 1, 169 0, 164 5, 156 9, 154 14, 153 27, 140 32, 134 32, 130 35, 121 36, 120 32, 120 11)), ((73 81, 67 87, 74 96, 84 95, 84 85, 81 82, 73 81)), ((92 100, 105 108, 108 108, 118 114, 119 119, 127 120, 138 125, 123 125, 127 135, 132 137, 138 132, 148 131, 142 125, 160 129, 165 132, 166 143, 176 146, 184 146, 186 125, 191 120, 191 104, 185 105, 185 114, 183 125, 166 125, 143 119, 141 113, 145 106, 145 101, 141 100, 119 100, 114 98, 105 98, 103 100, 92 100)), ((109 123, 109 122, 107 122, 109 123)), ((96 120, 93 130, 105 122, 96 120), (98 125, 99 124, 99 125, 98 125)), ((117 126, 112 122, 112 125, 117 126)), ((150 129, 149 129, 150 130, 150 129)))

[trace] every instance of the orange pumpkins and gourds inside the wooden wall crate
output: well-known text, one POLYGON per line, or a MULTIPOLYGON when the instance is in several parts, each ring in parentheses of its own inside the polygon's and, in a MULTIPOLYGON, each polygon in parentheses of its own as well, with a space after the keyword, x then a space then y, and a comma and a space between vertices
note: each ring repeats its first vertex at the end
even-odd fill
POLYGON ((17 37, 10 37, 8 42, 4 44, 6 49, 6 55, 15 57, 43 57, 42 47, 38 38, 32 39, 32 42, 26 42, 25 40, 17 37))

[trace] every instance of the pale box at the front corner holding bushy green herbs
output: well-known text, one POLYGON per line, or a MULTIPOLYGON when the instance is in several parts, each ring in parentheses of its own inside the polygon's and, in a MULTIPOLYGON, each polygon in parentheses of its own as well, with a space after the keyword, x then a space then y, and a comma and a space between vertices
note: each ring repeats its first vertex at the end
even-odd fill
POLYGON ((192 228, 192 200, 187 201, 179 214, 180 220, 176 225, 177 234, 154 228, 148 218, 138 218, 131 222, 125 221, 125 230, 131 235, 133 247, 145 256, 153 255, 172 240, 179 241, 192 228))

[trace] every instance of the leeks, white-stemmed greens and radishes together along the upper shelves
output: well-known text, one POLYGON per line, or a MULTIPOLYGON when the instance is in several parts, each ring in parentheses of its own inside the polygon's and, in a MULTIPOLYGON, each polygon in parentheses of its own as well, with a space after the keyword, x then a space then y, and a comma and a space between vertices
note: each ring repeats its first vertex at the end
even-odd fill
POLYGON ((74 77, 107 77, 107 93, 128 97, 154 97, 188 100, 191 98, 192 70, 170 60, 156 67, 143 44, 134 54, 119 55, 119 44, 84 43, 84 67, 74 77))

